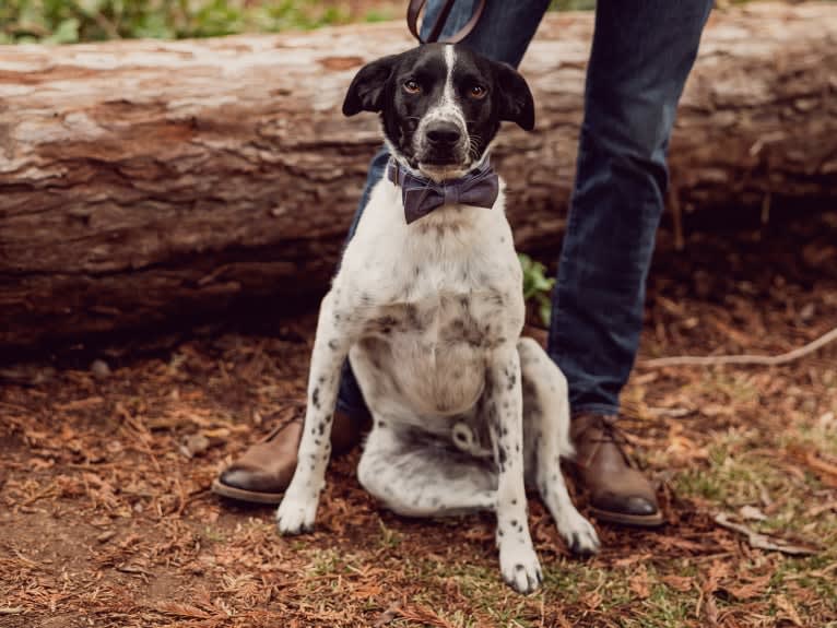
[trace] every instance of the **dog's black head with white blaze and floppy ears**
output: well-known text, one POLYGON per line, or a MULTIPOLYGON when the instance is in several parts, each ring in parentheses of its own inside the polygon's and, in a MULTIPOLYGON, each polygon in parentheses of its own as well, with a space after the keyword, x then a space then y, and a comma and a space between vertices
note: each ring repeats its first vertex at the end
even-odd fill
POLYGON ((461 176, 486 155, 502 120, 534 128, 523 78, 462 45, 425 44, 364 66, 343 114, 381 114, 393 155, 434 179, 461 176))

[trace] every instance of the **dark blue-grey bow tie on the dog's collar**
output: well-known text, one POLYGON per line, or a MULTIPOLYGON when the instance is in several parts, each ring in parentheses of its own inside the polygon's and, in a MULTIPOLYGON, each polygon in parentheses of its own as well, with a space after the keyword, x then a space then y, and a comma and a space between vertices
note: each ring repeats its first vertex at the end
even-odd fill
POLYGON ((387 176, 401 188, 408 225, 441 205, 473 205, 490 210, 499 193, 499 177, 487 161, 462 178, 437 183, 409 173, 390 159, 387 176))

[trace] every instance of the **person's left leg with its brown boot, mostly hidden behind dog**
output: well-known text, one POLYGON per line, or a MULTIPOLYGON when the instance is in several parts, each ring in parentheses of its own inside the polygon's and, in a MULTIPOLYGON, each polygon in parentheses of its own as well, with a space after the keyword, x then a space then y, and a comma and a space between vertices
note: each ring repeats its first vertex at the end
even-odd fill
MULTIPOLYGON (((459 28, 473 14, 474 0, 459 0, 451 10, 443 32, 443 39, 459 28)), ((480 23, 469 34, 465 44, 493 59, 517 66, 534 35, 549 0, 523 0, 518 2, 488 2, 480 23), (509 25, 514 24, 514 27, 509 25)), ((428 2, 429 20, 425 21, 426 35, 439 10, 439 0, 428 2)), ((357 205, 349 238, 352 238, 363 215, 369 192, 384 176, 389 154, 381 149, 373 157, 366 177, 366 186, 357 205)), ((332 427, 334 453, 352 447, 367 420, 369 412, 349 363, 338 395, 337 412, 332 427)), ((251 446, 240 458, 213 482, 212 490, 224 497, 243 501, 279 503, 282 493, 296 466, 296 449, 302 423, 290 422, 274 429, 263 442, 251 446)))

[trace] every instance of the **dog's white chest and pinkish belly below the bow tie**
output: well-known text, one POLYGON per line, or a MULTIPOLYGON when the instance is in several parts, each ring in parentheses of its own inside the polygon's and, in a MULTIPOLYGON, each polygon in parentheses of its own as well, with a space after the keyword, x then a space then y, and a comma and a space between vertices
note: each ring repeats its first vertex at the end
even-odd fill
POLYGON ((353 366, 363 365, 358 381, 373 410, 467 412, 494 349, 517 341, 520 264, 502 209, 490 212, 432 215, 403 229, 397 221, 384 228, 382 217, 361 225, 343 281, 361 327, 353 366))

